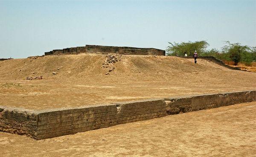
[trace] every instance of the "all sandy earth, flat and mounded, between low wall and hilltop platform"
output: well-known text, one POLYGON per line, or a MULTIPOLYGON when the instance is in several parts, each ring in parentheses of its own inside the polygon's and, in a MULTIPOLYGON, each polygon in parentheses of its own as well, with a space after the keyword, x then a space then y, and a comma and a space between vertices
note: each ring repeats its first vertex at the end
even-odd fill
POLYGON ((29 109, 256 89, 256 73, 206 60, 122 55, 105 75, 105 55, 55 55, 0 61, 0 105, 29 109), (52 72, 57 72, 53 75, 52 72), (26 80, 43 76, 42 80, 26 80))

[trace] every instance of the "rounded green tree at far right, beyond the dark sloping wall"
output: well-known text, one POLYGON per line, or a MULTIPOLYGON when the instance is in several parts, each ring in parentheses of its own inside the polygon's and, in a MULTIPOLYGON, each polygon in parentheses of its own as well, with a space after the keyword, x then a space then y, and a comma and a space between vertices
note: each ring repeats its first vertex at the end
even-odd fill
POLYGON ((235 62, 235 65, 237 65, 239 61, 245 61, 246 59, 251 58, 250 47, 246 45, 242 46, 240 43, 230 43, 229 41, 226 41, 226 44, 226 46, 222 47, 222 52, 228 54, 230 60, 235 62))

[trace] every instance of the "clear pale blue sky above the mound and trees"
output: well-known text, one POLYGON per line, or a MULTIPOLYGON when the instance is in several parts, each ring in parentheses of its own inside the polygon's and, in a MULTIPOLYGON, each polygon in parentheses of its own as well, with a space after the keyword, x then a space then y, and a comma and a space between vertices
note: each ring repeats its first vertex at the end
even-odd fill
POLYGON ((0 58, 85 44, 166 49, 207 40, 256 46, 252 1, 0 1, 0 58))

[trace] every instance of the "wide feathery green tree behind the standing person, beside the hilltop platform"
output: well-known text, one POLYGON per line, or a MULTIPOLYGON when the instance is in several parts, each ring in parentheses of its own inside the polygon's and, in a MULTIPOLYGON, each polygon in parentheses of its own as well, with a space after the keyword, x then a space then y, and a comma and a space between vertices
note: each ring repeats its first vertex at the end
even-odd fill
POLYGON ((188 41, 188 42, 181 42, 181 43, 171 43, 170 46, 167 47, 166 52, 167 55, 178 55, 184 56, 185 52, 187 55, 193 55, 194 51, 196 50, 198 55, 204 54, 206 52, 206 48, 209 44, 206 41, 188 41))

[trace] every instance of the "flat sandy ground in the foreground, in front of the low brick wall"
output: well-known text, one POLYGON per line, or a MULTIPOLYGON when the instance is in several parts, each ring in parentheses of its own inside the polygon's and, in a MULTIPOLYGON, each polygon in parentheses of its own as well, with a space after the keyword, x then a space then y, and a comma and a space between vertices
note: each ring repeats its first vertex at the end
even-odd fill
POLYGON ((1 157, 255 157, 256 102, 33 140, 0 132, 1 157))

